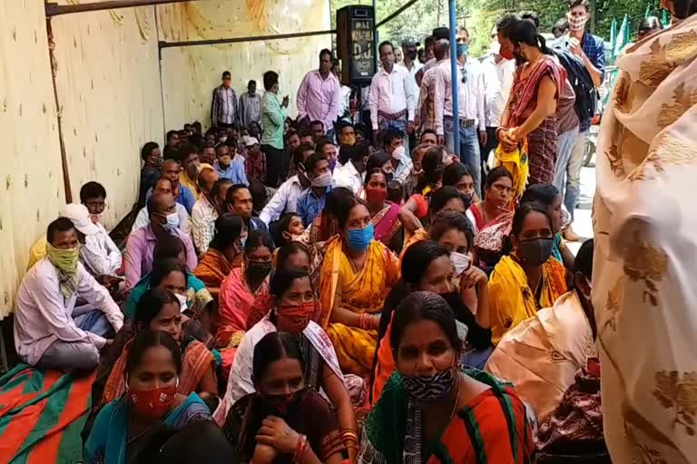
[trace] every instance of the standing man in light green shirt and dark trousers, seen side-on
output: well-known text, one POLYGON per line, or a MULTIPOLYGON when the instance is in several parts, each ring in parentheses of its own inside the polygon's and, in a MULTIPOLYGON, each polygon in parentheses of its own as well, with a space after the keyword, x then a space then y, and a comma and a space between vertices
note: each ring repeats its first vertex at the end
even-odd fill
POLYGON ((279 102, 279 74, 264 73, 264 98, 261 102, 261 150, 266 154, 266 183, 279 186, 280 164, 283 160, 283 124, 288 116, 288 95, 279 102))

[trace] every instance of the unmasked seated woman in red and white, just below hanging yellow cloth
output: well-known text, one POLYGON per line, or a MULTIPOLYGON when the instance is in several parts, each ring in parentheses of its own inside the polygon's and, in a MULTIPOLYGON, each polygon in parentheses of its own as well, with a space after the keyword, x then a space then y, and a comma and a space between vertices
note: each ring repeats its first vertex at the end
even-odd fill
POLYGON ((491 169, 484 190, 485 198, 469 208, 467 217, 475 227, 476 264, 490 274, 511 232, 513 176, 503 166, 491 169))

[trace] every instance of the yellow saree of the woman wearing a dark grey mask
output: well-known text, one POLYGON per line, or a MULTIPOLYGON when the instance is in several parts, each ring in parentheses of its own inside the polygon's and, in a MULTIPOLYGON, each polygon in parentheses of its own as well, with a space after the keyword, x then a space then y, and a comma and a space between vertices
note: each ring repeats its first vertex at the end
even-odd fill
POLYGON ((537 302, 523 268, 511 256, 502 257, 489 278, 492 343, 498 344, 517 324, 535 317, 538 309, 555 304, 566 293, 565 276, 564 265, 553 257, 547 259, 542 265, 542 291, 537 302))

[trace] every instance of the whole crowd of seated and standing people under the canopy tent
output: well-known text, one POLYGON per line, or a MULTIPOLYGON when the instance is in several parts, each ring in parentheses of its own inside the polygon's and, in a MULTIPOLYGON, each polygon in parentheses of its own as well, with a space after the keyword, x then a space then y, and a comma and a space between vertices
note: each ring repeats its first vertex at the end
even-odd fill
POLYGON ((447 28, 423 65, 380 43, 365 124, 329 50, 295 120, 277 73, 239 100, 223 73, 209 130, 142 147, 123 244, 83 185, 33 249, 15 348, 95 372, 84 461, 611 462, 594 239, 567 247, 604 78, 589 11, 555 46, 506 15, 482 62, 459 32, 456 76, 447 28))

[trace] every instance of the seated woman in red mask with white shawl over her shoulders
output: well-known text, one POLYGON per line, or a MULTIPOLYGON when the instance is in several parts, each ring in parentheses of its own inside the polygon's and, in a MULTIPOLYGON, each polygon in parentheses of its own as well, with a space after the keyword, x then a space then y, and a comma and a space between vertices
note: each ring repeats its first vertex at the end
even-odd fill
MULTIPOLYGON (((279 269, 273 276, 271 295, 275 309, 245 334, 232 364, 225 397, 215 412, 215 419, 221 423, 232 404, 254 392, 254 381, 257 379, 252 377, 255 346, 267 333, 280 330, 301 334, 305 384, 317 391, 324 391, 337 410, 341 429, 355 432, 357 425, 353 404, 360 404, 365 399, 365 383, 355 376, 345 377, 342 374, 337 353, 327 333, 312 322, 318 312, 318 301, 310 285, 309 275, 298 269, 279 269), (352 392, 353 401, 348 389, 352 392)), ((354 449, 351 456, 355 455, 354 449)))

